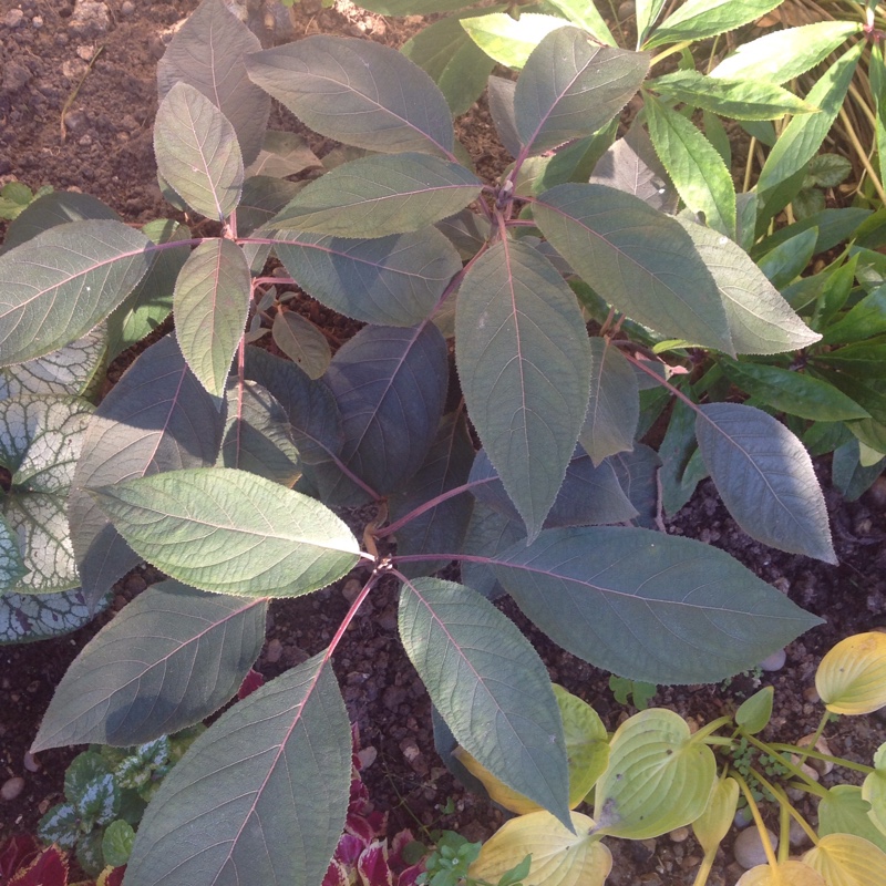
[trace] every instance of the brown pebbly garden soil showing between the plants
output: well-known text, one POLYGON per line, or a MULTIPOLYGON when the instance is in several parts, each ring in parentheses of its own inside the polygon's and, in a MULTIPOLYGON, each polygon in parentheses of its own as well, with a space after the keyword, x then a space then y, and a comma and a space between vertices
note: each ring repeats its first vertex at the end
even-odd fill
MULTIPOLYGON (((44 184, 80 188, 127 222, 169 215, 156 184, 152 148, 155 65, 164 34, 195 6, 195 0, 110 0, 106 25, 93 24, 76 33, 71 27, 73 0, 0 0, 0 184, 14 177, 32 188, 44 184)), ((396 21, 350 6, 324 10, 319 2, 302 0, 296 10, 292 27, 299 34, 359 33, 391 44, 408 35, 396 21)), ((415 22, 409 23, 414 27, 415 22)), ((280 114, 275 125, 281 127, 286 121, 280 114)), ((482 173, 501 168, 502 157, 482 109, 472 112, 461 134, 482 173)), ((322 153, 327 146, 315 140, 315 147, 322 153)), ((669 532, 722 547, 827 624, 789 647, 781 671, 742 676, 725 686, 663 688, 653 703, 702 723, 734 710, 758 686, 771 683, 776 702, 767 734, 790 741, 815 728, 821 705, 810 700, 808 690, 817 661, 837 640, 869 629, 886 615, 883 499, 868 495, 846 504, 828 492, 827 501, 837 567, 751 540, 729 518, 713 487, 702 484, 669 532)), ((148 567, 130 575, 120 584, 112 609, 74 635, 0 650, 0 784, 24 779, 14 800, 0 801, 0 843, 12 833, 32 831, 40 815, 59 802, 64 769, 78 750, 45 752, 37 765, 25 760, 53 687, 114 611, 157 578, 148 567)), ((360 576, 350 580, 354 578, 360 576)), ((353 585, 341 583, 308 598, 275 604, 257 668, 270 678, 323 649, 352 593, 353 585)), ((508 601, 502 607, 536 645, 554 680, 594 704, 610 729, 627 715, 629 711, 615 702, 608 689, 608 674, 563 652, 508 601)), ((449 827, 472 839, 488 836, 503 821, 502 813, 466 794, 434 752, 430 701, 396 637, 393 586, 380 586, 367 601, 346 632, 334 664, 363 744, 378 752, 364 777, 377 805, 391 812, 391 833, 411 827, 421 837, 423 828, 449 827)), ((828 738, 835 753, 869 762, 886 735, 882 721, 870 717, 844 718, 828 729, 828 738)), ((692 883, 700 859, 692 837, 608 842, 616 856, 609 879, 614 886, 692 883)), ((730 844, 728 838, 725 845, 730 844)), ((731 854, 722 853, 709 882, 720 886, 736 878, 731 854)))

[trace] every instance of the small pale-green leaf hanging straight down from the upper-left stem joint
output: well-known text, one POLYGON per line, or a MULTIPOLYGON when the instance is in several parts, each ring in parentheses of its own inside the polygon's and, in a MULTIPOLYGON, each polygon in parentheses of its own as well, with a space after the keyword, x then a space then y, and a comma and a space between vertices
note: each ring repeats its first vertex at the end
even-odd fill
POLYGON ((192 372, 213 394, 225 392, 230 361, 243 338, 251 282, 243 249, 214 238, 188 256, 175 285, 178 347, 192 372))

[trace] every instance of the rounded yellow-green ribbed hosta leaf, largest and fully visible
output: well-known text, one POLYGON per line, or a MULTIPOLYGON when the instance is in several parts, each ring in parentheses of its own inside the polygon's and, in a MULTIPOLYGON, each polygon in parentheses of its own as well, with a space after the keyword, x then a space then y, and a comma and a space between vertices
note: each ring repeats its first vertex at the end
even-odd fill
POLYGON ((612 735, 594 815, 606 834, 656 837, 694 822, 708 805, 715 779, 713 752, 692 739, 686 720, 650 708, 626 720, 612 735))

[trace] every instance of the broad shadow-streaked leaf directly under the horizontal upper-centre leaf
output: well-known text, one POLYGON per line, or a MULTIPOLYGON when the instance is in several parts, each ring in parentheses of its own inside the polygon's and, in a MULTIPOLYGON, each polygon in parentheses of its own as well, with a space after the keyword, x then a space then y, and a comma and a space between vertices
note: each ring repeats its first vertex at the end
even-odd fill
POLYGON ((371 240, 297 231, 272 237, 278 258, 306 292, 379 326, 426 319, 462 267, 455 247, 433 228, 371 240))

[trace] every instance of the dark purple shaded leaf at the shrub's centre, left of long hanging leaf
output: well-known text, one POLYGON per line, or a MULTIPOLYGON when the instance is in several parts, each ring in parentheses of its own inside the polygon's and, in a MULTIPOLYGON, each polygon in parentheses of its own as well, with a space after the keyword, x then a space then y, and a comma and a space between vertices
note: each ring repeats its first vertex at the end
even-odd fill
POLYGON ((326 381, 341 411, 342 461, 375 492, 394 492, 424 463, 443 414, 443 337, 431 323, 367 327, 336 353, 326 381))

